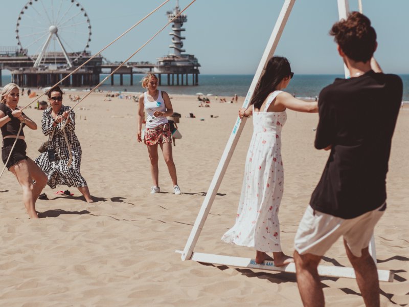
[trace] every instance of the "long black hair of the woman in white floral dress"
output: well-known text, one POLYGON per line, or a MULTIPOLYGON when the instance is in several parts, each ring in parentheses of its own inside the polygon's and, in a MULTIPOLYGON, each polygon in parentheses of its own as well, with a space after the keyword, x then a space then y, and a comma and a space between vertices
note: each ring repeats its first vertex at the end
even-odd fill
POLYGON ((276 86, 291 73, 290 62, 282 56, 270 58, 265 67, 264 75, 257 83, 256 90, 250 104, 260 109, 268 94, 276 90, 276 86))

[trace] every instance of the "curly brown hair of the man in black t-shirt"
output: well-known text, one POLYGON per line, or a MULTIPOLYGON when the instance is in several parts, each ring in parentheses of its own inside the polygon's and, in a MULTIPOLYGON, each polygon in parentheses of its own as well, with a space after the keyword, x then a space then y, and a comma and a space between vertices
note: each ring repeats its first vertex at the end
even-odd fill
POLYGON ((375 29, 371 20, 359 12, 351 12, 346 20, 335 23, 329 34, 345 55, 356 62, 369 61, 375 52, 375 29))

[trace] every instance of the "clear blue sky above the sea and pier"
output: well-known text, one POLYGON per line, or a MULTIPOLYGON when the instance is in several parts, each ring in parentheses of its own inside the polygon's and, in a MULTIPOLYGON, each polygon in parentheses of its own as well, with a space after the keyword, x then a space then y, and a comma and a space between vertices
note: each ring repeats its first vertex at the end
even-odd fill
MULTIPOLYGON (((34 0, 33 0, 34 1, 34 0)), ((49 3, 51 0, 39 0, 49 3)), ((54 0, 58 3, 60 0, 54 0)), ((69 0, 66 0, 69 1, 69 0)), ((95 53, 135 24, 162 0, 78 0, 92 25, 90 50, 95 53)), ((179 0, 184 8, 191 0, 179 0)), ((7 2, 0 18, 0 46, 16 46, 15 24, 28 0, 7 2)), ((196 0, 186 11, 186 53, 194 54, 202 74, 254 74, 283 0, 196 0)), ((362 0, 363 13, 378 34, 375 56, 385 72, 409 73, 409 0, 362 0)), ((167 23, 171 0, 143 24, 103 52, 122 61, 167 23)), ((358 10, 358 0, 349 1, 358 10)), ((37 5, 40 9, 40 5, 37 5)), ((336 45, 328 35, 338 18, 336 0, 297 0, 276 50, 298 74, 343 74, 336 45)), ((132 61, 152 61, 170 52, 170 26, 135 55, 132 61)))

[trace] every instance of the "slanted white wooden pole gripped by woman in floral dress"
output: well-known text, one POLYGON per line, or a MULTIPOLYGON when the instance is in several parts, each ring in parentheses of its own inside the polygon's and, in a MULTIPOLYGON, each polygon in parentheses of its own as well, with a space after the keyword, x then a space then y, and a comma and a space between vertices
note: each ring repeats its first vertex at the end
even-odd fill
MULTIPOLYGON (((259 66, 257 68, 256 74, 254 75, 252 84, 247 92, 246 98, 243 103, 243 107, 246 108, 253 96, 253 92, 256 88, 257 83, 259 82, 265 64, 268 59, 274 54, 278 42, 280 40, 281 34, 283 33, 284 26, 287 22, 288 16, 290 15, 291 9, 294 6, 296 0, 285 0, 283 7, 281 9, 280 15, 277 19, 276 25, 272 30, 270 39, 268 40, 267 46, 264 50, 263 56, 261 57, 259 66)), ((233 131, 230 135, 229 141, 224 148, 223 155, 220 159, 219 165, 217 166, 216 172, 213 176, 213 180, 210 184, 209 190, 206 193, 205 200, 203 201, 199 214, 197 215, 195 224, 193 225, 192 231, 186 243, 185 249, 181 255, 182 260, 189 260, 192 257, 194 247, 196 245, 197 239, 199 238, 200 232, 203 228, 203 225, 206 222, 206 218, 209 214, 210 208, 212 207, 213 201, 215 199, 217 190, 221 184, 221 181, 224 177, 224 173, 229 165, 230 159, 232 158, 234 149, 236 148, 237 142, 239 140, 241 131, 243 130, 246 118, 244 117, 241 120, 237 117, 236 123, 233 127, 233 131)))

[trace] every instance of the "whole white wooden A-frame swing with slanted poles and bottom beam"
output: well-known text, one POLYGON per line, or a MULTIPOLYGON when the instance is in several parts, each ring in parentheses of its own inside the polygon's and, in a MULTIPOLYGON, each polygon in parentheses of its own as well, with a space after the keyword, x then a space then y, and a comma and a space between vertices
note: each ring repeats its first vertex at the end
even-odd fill
MULTIPOLYGON (((349 12, 348 0, 337 0, 338 1, 338 12, 339 18, 346 18, 349 12)), ((280 15, 277 19, 276 25, 272 30, 271 36, 268 40, 267 46, 264 50, 263 56, 261 57, 260 63, 258 65, 256 74, 254 75, 252 84, 247 92, 247 95, 244 99, 243 107, 247 108, 249 102, 252 99, 253 92, 256 88, 258 81, 260 80, 263 74, 263 68, 265 67, 268 59, 274 54, 278 42, 280 40, 281 34, 283 33, 285 24, 290 15, 291 9, 294 6, 296 0, 285 0, 283 7, 281 9, 280 15)), ((345 67, 345 75, 349 76, 349 71, 345 67)), ((281 272, 290 272, 296 273, 296 267, 294 264, 289 264, 285 267, 275 267, 273 261, 264 261, 263 264, 257 264, 255 259, 251 258, 241 258, 233 256, 224 256, 224 255, 215 255, 215 254, 206 254, 206 253, 195 253, 194 247, 200 236, 203 225, 206 222, 206 218, 210 212, 213 201, 215 199, 216 193, 219 189, 221 181, 223 179, 224 173, 229 165, 229 162, 232 158, 234 149, 236 148, 237 142, 243 130, 246 118, 243 119, 237 118, 236 123, 233 127, 233 131, 230 135, 226 147, 224 148, 223 155, 220 159, 219 165, 217 166, 216 172, 213 176, 213 180, 209 186, 209 190, 206 194, 205 200, 203 201, 200 211, 196 217, 195 224, 193 225, 192 231, 186 243, 185 249, 183 251, 176 251, 181 253, 182 260, 194 260, 198 262, 206 262, 210 264, 226 265, 233 267, 243 267, 243 268, 253 268, 261 269, 268 271, 281 271, 281 272)), ((375 243, 374 238, 371 239, 371 255, 375 258, 376 263, 376 254, 375 254, 375 243)), ((346 278, 356 278, 353 268, 347 267, 335 267, 335 266, 323 266, 318 267, 318 273, 321 276, 330 276, 330 277, 346 277, 346 278)), ((381 281, 393 281, 393 272, 387 270, 378 270, 379 280, 381 281)))

